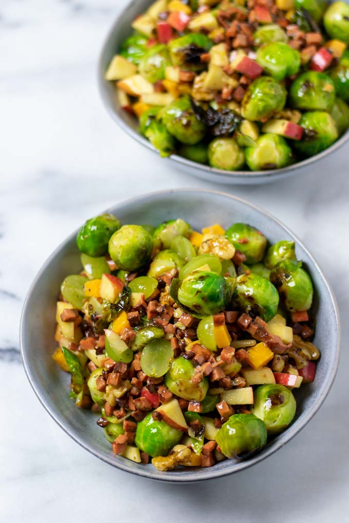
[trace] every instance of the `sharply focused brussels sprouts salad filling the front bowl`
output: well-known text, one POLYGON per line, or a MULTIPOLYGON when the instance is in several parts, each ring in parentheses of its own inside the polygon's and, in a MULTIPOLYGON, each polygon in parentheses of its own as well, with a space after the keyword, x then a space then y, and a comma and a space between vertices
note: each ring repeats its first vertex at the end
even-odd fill
POLYGON ((80 274, 57 302, 53 359, 115 454, 161 471, 260 451, 314 380, 313 286, 295 244, 234 223, 122 225, 77 235, 80 274))

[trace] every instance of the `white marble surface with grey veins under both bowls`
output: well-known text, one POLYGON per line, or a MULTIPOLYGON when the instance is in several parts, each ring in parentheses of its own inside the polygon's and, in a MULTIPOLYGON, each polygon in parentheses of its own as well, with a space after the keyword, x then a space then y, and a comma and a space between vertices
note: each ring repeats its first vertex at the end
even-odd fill
POLYGON ((348 521, 348 148, 261 187, 176 172, 123 134, 98 96, 98 52, 123 4, 0 4, 0 521, 348 521), (202 186, 251 200, 302 238, 339 301, 342 359, 321 411, 273 457, 214 482, 159 484, 98 461, 55 425, 21 367, 20 312, 43 261, 86 218, 145 191, 202 186))

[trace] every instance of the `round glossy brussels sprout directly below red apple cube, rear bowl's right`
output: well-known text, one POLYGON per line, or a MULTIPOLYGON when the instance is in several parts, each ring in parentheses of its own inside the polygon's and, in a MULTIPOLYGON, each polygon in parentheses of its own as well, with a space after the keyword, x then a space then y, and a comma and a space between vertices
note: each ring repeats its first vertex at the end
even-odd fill
POLYGON ((297 109, 330 111, 335 99, 334 83, 325 73, 307 71, 292 82, 289 97, 297 109))

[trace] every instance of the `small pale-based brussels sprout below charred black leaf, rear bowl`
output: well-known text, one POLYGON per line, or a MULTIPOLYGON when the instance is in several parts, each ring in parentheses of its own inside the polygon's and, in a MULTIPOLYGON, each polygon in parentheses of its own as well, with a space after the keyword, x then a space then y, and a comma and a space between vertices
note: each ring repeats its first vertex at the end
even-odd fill
POLYGON ((208 162, 216 169, 238 170, 245 158, 234 138, 215 138, 208 146, 208 162))

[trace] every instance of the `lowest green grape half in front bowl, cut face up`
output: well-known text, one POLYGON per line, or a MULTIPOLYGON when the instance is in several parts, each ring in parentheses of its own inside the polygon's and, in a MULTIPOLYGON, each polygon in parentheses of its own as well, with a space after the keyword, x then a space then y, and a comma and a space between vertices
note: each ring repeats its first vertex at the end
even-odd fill
POLYGON ((173 350, 167 339, 153 339, 145 345, 141 356, 142 371, 152 378, 164 376, 171 367, 173 350))

